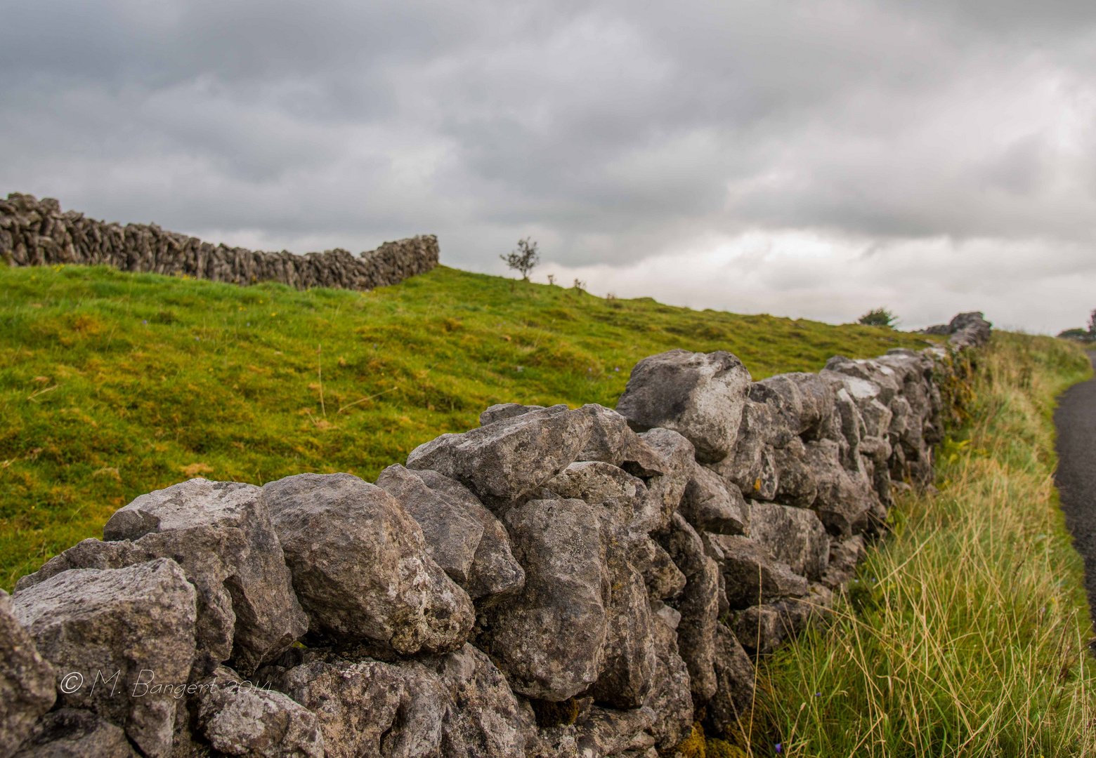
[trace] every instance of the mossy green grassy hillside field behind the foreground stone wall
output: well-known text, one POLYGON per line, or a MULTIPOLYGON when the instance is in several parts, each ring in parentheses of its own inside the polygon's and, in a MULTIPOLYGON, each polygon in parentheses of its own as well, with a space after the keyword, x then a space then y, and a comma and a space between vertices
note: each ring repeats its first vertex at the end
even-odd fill
POLYGON ((604 300, 447 267, 373 292, 0 268, 0 586, 194 475, 372 481, 496 402, 613 406, 631 366, 727 349, 755 378, 922 347, 884 329, 604 300))

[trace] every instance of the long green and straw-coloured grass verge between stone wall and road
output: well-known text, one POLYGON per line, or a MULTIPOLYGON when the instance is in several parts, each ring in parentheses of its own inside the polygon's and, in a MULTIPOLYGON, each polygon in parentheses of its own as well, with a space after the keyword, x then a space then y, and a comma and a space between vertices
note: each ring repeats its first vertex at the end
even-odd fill
POLYGON ((1065 341, 994 334, 940 494, 900 498, 833 625, 761 669, 785 756, 1096 751, 1084 567, 1051 479, 1053 399, 1089 374, 1065 341))

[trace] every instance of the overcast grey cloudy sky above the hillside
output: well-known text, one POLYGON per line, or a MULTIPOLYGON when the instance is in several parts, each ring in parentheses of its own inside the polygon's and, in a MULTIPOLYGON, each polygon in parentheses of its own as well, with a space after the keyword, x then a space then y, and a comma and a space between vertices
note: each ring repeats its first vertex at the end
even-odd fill
POLYGON ((35 0, 0 192, 294 252, 906 328, 1096 308, 1096 3, 35 0), (961 5, 957 9, 956 5, 961 5))

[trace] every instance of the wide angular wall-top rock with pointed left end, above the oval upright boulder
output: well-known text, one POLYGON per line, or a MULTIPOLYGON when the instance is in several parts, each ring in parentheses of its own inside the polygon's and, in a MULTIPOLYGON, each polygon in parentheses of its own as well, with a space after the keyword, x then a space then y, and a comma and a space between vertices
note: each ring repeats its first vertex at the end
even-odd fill
POLYGON ((412 450, 407 467, 456 479, 500 512, 572 463, 590 439, 592 423, 581 409, 530 411, 464 434, 443 434, 412 450))

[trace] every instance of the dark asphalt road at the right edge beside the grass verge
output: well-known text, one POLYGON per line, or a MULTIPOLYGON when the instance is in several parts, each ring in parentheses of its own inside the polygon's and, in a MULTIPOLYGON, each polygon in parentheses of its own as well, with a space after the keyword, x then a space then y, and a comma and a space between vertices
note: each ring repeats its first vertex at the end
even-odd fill
MULTIPOLYGON (((1088 358, 1096 366, 1096 352, 1088 358)), ((1074 384, 1058 399, 1058 471, 1054 483, 1074 545, 1085 560, 1088 608, 1096 611, 1096 379, 1074 384)))

